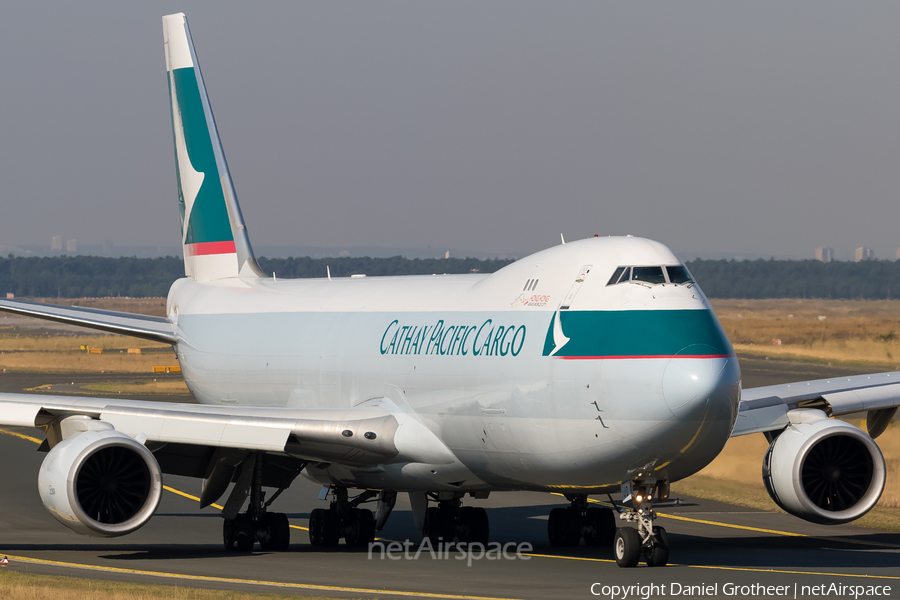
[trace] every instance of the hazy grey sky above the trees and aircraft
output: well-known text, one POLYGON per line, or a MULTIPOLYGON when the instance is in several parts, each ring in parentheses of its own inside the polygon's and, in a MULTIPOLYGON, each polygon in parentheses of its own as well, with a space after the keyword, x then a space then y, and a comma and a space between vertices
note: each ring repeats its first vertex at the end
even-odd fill
POLYGON ((15 2, 0 245, 179 243, 183 10, 251 241, 900 247, 900 4, 15 2))

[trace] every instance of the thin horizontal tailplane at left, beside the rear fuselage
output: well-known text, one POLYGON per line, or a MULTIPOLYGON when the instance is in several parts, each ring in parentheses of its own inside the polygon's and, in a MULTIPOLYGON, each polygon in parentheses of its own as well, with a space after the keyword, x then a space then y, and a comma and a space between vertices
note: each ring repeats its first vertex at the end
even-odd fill
POLYGON ((90 327, 91 329, 130 335, 166 344, 174 344, 177 341, 175 338, 175 327, 165 317, 151 317, 79 306, 58 306, 42 302, 27 302, 25 300, 9 300, 5 298, 0 299, 0 310, 26 317, 37 317, 38 319, 58 321, 69 325, 90 327))

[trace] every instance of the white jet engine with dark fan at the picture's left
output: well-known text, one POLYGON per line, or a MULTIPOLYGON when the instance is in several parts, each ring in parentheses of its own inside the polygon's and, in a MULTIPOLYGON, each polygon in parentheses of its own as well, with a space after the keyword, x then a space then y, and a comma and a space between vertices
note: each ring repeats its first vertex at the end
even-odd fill
POLYGON ((162 494, 153 454, 124 433, 85 431, 53 447, 38 474, 41 501, 77 533, 115 537, 150 520, 162 494))

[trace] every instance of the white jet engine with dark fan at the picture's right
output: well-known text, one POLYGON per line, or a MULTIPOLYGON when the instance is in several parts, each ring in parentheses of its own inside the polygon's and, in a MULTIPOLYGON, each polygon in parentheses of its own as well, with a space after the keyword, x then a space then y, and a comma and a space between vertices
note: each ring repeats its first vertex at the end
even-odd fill
POLYGON ((793 411, 795 421, 769 446, 763 482, 786 512, 813 523, 858 519, 884 490, 884 456, 857 427, 821 411, 793 411), (796 422, 799 421, 799 422, 796 422))

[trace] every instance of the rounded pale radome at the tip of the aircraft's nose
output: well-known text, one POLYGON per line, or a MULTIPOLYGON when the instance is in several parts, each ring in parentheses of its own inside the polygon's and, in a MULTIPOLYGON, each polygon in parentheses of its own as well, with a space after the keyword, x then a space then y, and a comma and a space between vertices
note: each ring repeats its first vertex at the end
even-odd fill
POLYGON ((736 357, 716 356, 713 352, 707 346, 688 346, 666 366, 663 397, 672 414, 681 420, 712 418, 734 422, 740 368, 736 357))

